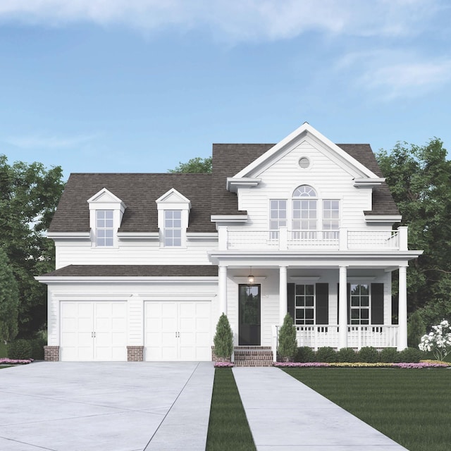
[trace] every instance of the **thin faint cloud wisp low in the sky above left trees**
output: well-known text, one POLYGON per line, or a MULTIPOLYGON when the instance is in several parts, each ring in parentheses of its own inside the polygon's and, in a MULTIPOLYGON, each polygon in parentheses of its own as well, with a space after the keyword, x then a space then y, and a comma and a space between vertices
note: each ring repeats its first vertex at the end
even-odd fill
POLYGON ((19 147, 20 149, 58 150, 84 147, 96 137, 97 135, 76 135, 68 137, 56 135, 24 135, 6 137, 4 142, 19 147))

